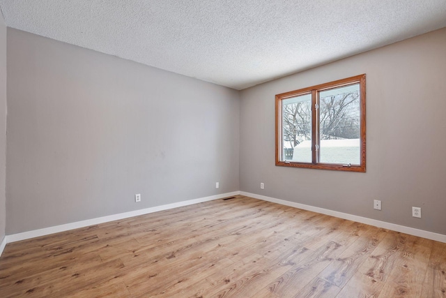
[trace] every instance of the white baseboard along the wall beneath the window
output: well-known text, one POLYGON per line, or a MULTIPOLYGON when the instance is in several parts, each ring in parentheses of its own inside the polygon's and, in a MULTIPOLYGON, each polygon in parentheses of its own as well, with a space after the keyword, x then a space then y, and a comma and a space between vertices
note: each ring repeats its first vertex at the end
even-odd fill
POLYGON ((266 197, 265 195, 257 195, 256 193, 246 193, 245 191, 240 191, 240 195, 246 195, 247 197, 256 198, 259 200, 264 200, 264 201, 282 204, 282 205, 286 205, 286 206, 290 206, 290 207, 313 211, 313 212, 326 214, 326 215, 330 215, 330 216, 334 216, 334 217, 344 218, 344 219, 348 219, 349 221, 357 221, 358 223, 374 225, 378 228, 385 228, 387 230, 394 230, 396 232, 402 232, 405 234, 410 234, 413 236, 422 237, 422 238, 446 243, 446 235, 444 235, 444 234, 428 232, 425 230, 418 230, 415 228, 406 227, 404 225, 397 225, 395 223, 387 223, 385 221, 377 221, 376 219, 371 219, 371 218, 362 217, 362 216, 356 216, 353 214, 347 214, 347 213, 343 213, 343 212, 339 212, 339 211, 333 211, 330 209, 314 207, 314 206, 310 206, 310 205, 306 205, 306 204, 300 204, 300 203, 290 202, 290 201, 286 201, 286 200, 279 200, 276 198, 266 197))

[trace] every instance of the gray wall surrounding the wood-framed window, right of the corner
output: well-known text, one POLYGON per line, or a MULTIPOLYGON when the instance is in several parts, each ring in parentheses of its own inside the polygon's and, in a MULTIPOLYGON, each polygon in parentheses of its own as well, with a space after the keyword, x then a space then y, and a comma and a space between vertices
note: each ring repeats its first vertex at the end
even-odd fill
POLYGON ((440 29, 242 91, 240 190, 446 234, 445 53, 440 29), (276 167, 275 94, 362 73, 367 172, 276 167))

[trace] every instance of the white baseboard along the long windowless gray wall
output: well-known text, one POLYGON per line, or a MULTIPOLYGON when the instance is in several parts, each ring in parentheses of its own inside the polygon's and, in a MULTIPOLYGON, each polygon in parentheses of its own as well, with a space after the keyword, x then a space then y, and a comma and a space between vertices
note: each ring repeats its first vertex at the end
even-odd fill
POLYGON ((187 206, 187 205, 191 205, 191 204, 208 202, 208 201, 212 201, 212 200, 230 197, 231 195, 239 195, 239 194, 240 194, 240 191, 233 191, 232 193, 222 193, 220 195, 211 195, 210 197, 205 197, 205 198, 187 200, 187 201, 177 202, 177 203, 172 203, 172 204, 165 204, 165 205, 146 208, 146 209, 139 209, 139 210, 129 211, 129 212, 120 213, 120 214, 113 214, 113 215, 109 215, 109 216, 87 219, 86 221, 77 221, 75 223, 66 223, 65 225, 56 225, 54 227, 6 235, 5 239, 3 239, 4 244, 2 242, 2 246, 0 246, 0 248, 2 248, 0 250, 0 255, 3 252, 3 248, 7 243, 31 239, 34 237, 45 236, 48 234, 54 234, 54 233, 58 233, 58 232, 65 232, 68 230, 74 230, 74 229, 78 229, 78 228, 84 228, 84 227, 88 227, 89 225, 98 225, 99 223, 107 223, 109 221, 118 221, 123 218, 129 218, 129 217, 133 217, 133 216, 149 214, 149 213, 163 211, 163 210, 167 210, 167 209, 174 209, 177 207, 183 207, 183 206, 187 206))

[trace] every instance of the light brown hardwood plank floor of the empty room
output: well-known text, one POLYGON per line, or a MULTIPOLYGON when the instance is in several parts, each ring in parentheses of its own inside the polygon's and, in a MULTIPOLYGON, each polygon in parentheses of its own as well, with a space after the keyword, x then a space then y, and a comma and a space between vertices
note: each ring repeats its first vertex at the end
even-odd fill
POLYGON ((446 297, 446 244, 236 196, 8 244, 0 297, 446 297))

